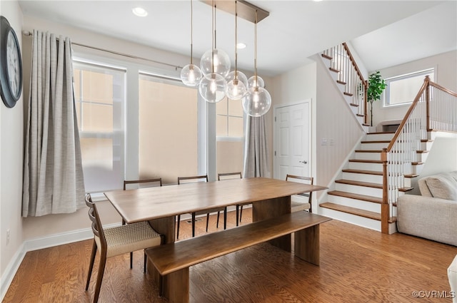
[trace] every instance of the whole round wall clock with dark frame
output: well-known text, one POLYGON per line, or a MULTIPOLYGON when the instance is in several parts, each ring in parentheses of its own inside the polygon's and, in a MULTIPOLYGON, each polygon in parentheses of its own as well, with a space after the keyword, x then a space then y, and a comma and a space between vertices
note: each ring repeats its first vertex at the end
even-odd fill
POLYGON ((8 20, 0 19, 0 93, 5 106, 12 108, 22 91, 21 48, 8 20))

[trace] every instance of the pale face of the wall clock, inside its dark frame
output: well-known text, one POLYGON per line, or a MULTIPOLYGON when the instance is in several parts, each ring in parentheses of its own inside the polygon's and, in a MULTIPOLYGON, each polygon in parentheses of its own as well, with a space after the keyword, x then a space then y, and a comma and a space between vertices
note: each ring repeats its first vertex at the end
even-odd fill
POLYGON ((21 63, 19 56, 19 51, 16 47, 16 37, 14 37, 12 31, 9 31, 6 38, 6 71, 8 74, 9 89, 14 98, 19 98, 19 94, 21 93, 21 63))

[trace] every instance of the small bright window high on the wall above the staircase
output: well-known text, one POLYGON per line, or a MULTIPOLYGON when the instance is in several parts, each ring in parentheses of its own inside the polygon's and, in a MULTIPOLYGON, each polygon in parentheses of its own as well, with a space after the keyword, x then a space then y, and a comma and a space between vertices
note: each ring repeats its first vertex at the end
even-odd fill
POLYGON ((401 106, 412 103, 426 76, 434 81, 433 68, 386 79, 387 87, 383 93, 383 106, 401 106))

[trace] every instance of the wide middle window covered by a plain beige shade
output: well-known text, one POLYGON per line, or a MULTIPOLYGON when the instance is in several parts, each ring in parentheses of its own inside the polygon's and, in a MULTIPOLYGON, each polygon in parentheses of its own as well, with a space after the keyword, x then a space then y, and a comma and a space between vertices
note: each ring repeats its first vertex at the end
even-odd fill
POLYGON ((197 94, 181 81, 139 76, 140 178, 199 174, 197 94))

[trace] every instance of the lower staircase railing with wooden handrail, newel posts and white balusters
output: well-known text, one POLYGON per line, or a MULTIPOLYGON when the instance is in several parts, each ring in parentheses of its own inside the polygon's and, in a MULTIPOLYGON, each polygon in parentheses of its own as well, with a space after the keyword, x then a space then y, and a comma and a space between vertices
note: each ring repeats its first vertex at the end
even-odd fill
MULTIPOLYGON (((440 113, 441 113, 440 112, 440 113)), ((426 76, 423 85, 419 89, 416 98, 408 108, 406 115, 398 126, 391 142, 387 148, 381 152, 383 163, 383 200, 381 203, 381 232, 388 233, 388 221, 393 213, 393 206, 396 205, 398 189, 404 187, 405 163, 411 167, 411 158, 416 153, 414 148, 418 148, 421 140, 428 138, 431 130, 443 130, 457 132, 457 93, 444 88, 437 83, 430 81, 426 76), (435 115, 436 107, 431 104, 443 103, 440 98, 441 93, 447 94, 446 102, 448 116, 447 121, 440 121, 443 118, 435 115), (432 101, 431 96, 435 100, 432 101), (423 105, 425 108, 420 108, 423 105), (433 115, 432 115, 433 114, 433 115), (416 115, 414 117, 413 115, 416 115), (434 119, 432 119, 434 118, 434 119), (451 121, 449 121, 449 118, 451 121), (433 124, 433 125, 432 125, 433 124), (443 125, 446 125, 444 127, 443 125), (443 129, 441 129, 443 128, 443 129), (406 147, 406 148, 405 148, 406 147), (411 158, 408 158, 411 157, 411 158), (405 161, 406 160, 406 161, 405 161)))

